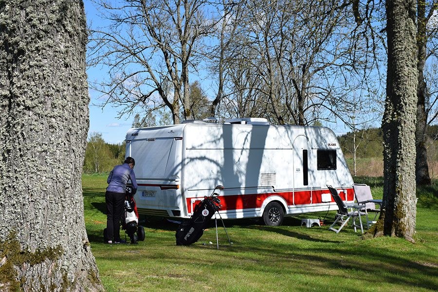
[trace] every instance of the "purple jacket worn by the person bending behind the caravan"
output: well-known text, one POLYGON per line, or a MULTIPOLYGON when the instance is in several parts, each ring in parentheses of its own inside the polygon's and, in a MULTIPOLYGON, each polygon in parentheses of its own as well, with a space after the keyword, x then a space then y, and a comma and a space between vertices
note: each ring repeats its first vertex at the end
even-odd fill
POLYGON ((127 163, 117 165, 111 170, 110 176, 108 177, 107 183, 110 185, 107 187, 107 191, 124 194, 126 184, 129 180, 132 183, 132 195, 134 195, 138 187, 134 170, 130 168, 127 163))

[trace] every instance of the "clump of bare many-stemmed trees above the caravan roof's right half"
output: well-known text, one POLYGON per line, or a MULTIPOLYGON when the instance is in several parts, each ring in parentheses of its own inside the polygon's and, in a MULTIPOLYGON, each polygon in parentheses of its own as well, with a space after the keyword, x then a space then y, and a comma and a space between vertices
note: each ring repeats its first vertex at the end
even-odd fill
POLYGON ((351 1, 244 3, 226 54, 221 113, 252 116, 256 108, 273 124, 345 121, 346 92, 364 87, 373 65, 363 34, 354 32, 351 1))

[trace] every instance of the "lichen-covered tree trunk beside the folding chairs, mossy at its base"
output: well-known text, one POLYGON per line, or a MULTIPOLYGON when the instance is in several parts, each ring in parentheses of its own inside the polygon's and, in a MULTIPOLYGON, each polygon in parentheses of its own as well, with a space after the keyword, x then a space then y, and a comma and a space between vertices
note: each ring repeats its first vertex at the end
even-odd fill
MULTIPOLYGON (((388 72, 383 114, 384 235, 414 240, 417 113, 416 1, 386 0, 388 72)), ((383 220, 383 222, 382 222, 383 220)), ((382 224, 383 223, 383 224, 382 224)))

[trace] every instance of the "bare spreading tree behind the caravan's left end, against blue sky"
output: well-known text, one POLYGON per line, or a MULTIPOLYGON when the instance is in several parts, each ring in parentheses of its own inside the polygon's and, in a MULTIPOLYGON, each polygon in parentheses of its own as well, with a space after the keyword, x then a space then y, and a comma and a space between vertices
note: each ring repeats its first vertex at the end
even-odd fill
POLYGON ((204 16, 204 0, 95 1, 105 28, 91 30, 90 63, 110 68, 110 80, 92 87, 122 106, 168 107, 174 124, 191 117, 189 71, 199 62, 201 40, 211 29, 204 16), (171 92, 168 92, 168 87, 171 92), (169 94, 170 93, 170 94, 169 94))

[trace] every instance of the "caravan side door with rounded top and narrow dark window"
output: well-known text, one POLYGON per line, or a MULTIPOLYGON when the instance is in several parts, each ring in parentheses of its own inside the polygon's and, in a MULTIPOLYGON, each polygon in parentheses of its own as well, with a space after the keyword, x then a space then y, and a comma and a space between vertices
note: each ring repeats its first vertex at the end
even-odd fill
POLYGON ((293 141, 293 204, 312 203, 312 182, 309 175, 310 164, 309 138, 298 135, 293 141))

